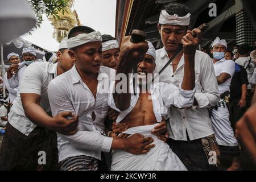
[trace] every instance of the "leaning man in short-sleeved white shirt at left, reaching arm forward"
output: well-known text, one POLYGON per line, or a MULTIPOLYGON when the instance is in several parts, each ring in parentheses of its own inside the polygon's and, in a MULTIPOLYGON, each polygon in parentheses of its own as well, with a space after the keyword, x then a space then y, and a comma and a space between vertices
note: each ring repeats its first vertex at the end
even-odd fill
POLYGON ((49 82, 73 66, 68 54, 67 40, 60 43, 57 64, 32 63, 24 71, 20 94, 9 113, 9 123, 0 152, 0 168, 3 170, 57 169, 57 131, 76 133, 77 118, 63 112, 51 117, 47 96, 49 82), (46 152, 46 165, 38 163, 46 152))

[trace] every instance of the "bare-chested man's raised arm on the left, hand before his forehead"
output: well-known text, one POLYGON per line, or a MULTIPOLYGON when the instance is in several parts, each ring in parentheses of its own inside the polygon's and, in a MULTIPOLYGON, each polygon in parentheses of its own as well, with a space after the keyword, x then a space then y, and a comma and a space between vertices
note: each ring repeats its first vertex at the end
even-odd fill
MULTIPOLYGON (((122 88, 125 93, 113 93, 115 105, 121 111, 126 110, 130 106, 131 94, 129 93, 129 73, 132 72, 132 68, 138 64, 138 61, 144 59, 147 49, 147 42, 131 43, 130 36, 125 37, 125 42, 121 47, 121 53, 118 61, 119 64, 117 67, 117 75, 119 73, 123 73, 126 76, 126 88, 122 88)), ((121 80, 115 81, 115 90, 117 90, 119 82, 121 82, 121 80)))

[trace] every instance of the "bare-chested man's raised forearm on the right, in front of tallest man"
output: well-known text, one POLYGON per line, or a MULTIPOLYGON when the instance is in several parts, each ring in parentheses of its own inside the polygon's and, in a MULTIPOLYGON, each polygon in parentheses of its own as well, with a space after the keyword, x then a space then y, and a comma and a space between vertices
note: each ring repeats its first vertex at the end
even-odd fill
POLYGON ((195 88, 195 56, 184 56, 184 76, 181 84, 183 90, 195 88))

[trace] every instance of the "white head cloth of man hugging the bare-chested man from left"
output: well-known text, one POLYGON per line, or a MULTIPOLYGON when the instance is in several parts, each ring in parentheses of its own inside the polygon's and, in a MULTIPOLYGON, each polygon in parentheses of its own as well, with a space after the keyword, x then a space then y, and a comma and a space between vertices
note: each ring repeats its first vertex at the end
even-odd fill
POLYGON ((81 46, 83 44, 90 43, 90 42, 96 42, 96 41, 102 42, 102 38, 101 38, 100 32, 94 31, 89 34, 79 34, 73 38, 70 38, 68 39, 67 44, 68 44, 68 48, 72 49, 74 47, 81 46))

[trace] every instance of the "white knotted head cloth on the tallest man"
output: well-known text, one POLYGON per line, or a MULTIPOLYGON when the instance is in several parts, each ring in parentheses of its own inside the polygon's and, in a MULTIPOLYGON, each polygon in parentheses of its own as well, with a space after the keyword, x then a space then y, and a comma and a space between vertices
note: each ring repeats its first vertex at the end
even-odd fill
POLYGON ((189 26, 190 16, 190 13, 183 17, 180 17, 177 14, 169 15, 166 10, 162 10, 159 18, 159 24, 189 26))

